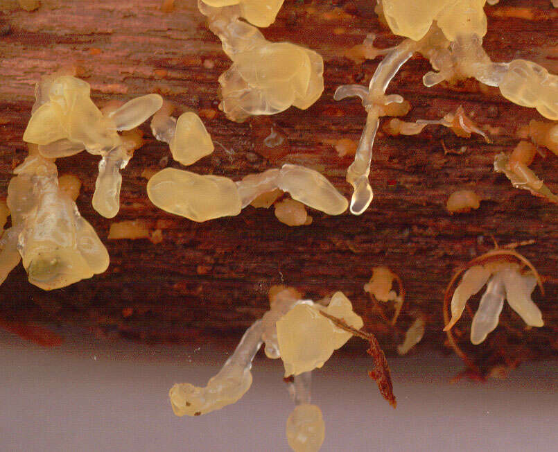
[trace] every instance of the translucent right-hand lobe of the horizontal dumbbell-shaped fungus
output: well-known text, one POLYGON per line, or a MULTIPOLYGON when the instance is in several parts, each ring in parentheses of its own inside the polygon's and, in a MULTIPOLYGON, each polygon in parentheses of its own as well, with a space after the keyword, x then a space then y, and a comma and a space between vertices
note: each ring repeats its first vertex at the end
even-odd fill
POLYGON ((277 187, 288 191, 294 200, 329 215, 342 214, 349 205, 329 180, 304 166, 283 165, 277 178, 277 187))

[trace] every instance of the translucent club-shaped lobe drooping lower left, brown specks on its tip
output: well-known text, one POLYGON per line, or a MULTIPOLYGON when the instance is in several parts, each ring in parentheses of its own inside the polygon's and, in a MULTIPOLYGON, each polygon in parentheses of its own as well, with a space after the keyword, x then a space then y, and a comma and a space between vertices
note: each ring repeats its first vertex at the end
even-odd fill
POLYGON ((177 383, 168 392, 177 416, 199 416, 235 403, 252 385, 252 359, 261 347, 262 322, 257 320, 246 330, 234 354, 216 376, 203 388, 177 383))

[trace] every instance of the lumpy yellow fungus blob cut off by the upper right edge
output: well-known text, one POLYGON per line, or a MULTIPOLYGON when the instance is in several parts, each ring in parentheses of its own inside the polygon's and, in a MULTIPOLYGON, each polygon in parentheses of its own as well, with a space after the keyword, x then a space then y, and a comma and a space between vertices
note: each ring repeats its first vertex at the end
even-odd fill
POLYGON ((513 60, 500 83, 500 92, 509 101, 558 120, 558 76, 534 62, 513 60))

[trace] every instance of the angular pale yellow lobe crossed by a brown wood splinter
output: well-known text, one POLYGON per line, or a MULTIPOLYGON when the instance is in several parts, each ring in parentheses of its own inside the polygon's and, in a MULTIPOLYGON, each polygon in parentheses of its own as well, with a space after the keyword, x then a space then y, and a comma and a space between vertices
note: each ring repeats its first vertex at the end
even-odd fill
MULTIPOLYGON (((351 338, 351 333, 335 327, 331 320, 320 314, 321 306, 297 304, 277 321, 277 341, 285 366, 285 376, 298 375, 322 367, 335 349, 351 338)), ((333 295, 326 313, 360 329, 363 320, 353 312, 345 295, 333 295)))

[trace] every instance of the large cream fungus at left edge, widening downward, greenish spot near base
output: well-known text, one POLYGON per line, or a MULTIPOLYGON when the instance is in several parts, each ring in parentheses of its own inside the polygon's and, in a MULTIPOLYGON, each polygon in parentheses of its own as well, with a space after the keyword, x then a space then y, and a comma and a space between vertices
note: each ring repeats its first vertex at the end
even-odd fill
POLYGON ((10 265, 17 265, 19 258, 13 253, 17 245, 30 283, 44 290, 104 272, 107 250, 58 186, 55 164, 35 153, 14 172, 17 175, 8 186, 12 227, 4 233, 0 260, 7 253, 10 265))

